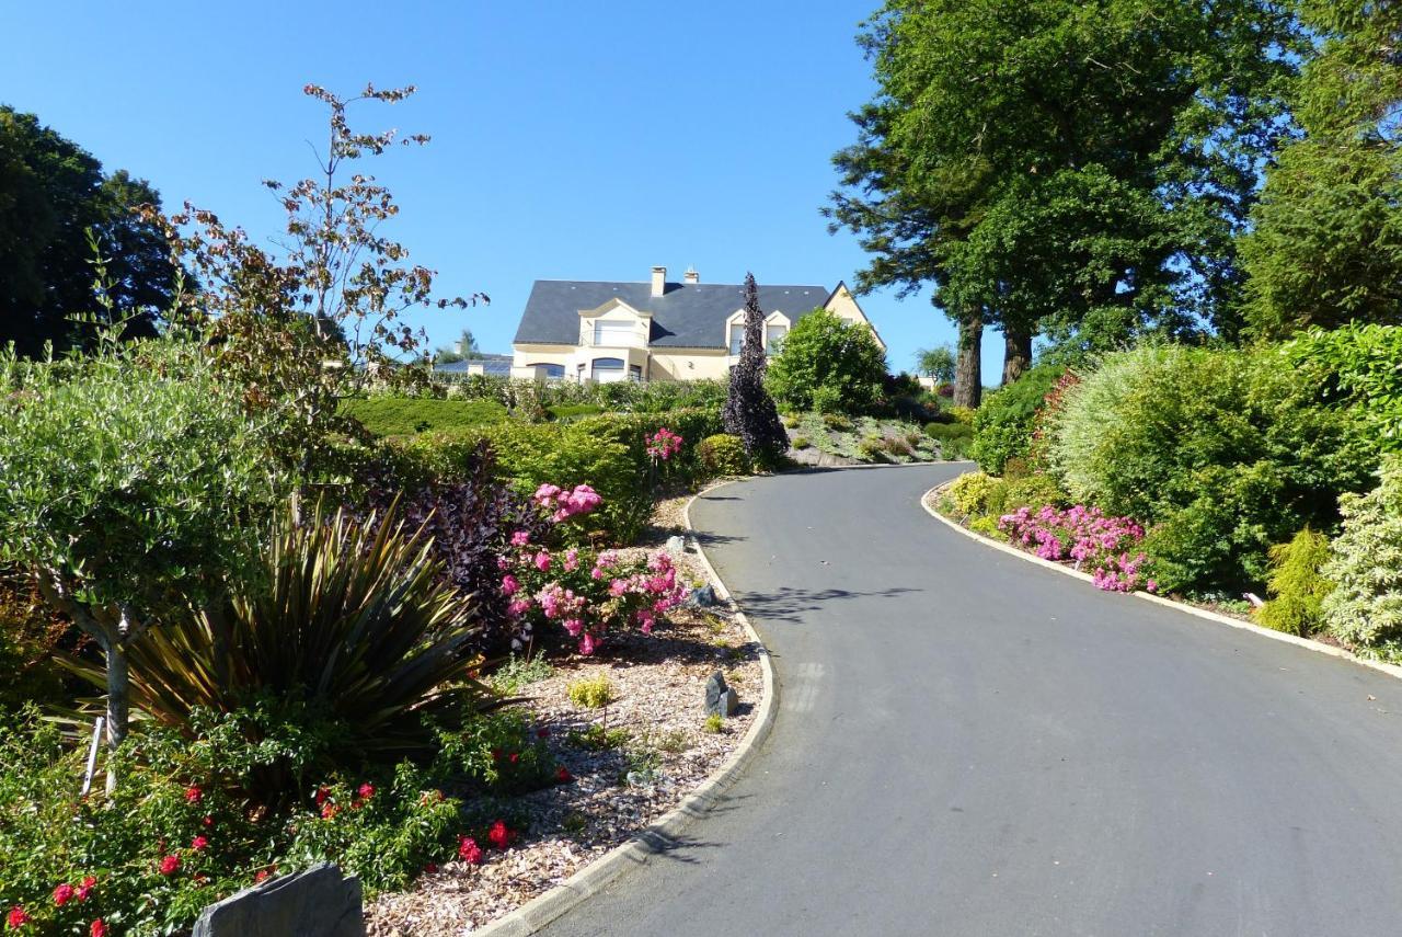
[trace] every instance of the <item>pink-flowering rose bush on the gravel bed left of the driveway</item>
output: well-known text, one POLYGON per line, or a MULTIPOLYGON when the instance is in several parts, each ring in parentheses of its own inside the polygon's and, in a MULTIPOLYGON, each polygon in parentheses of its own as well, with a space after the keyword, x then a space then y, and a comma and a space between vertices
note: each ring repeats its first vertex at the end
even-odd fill
MULTIPOLYGON (((601 498, 589 485, 564 490, 541 485, 534 495, 554 523, 589 513, 601 498)), ((552 550, 531 543, 524 530, 512 533, 498 568, 501 593, 517 620, 516 647, 524 645, 534 628, 559 627, 578 642, 580 654, 593 654, 610 631, 637 627, 651 634, 658 619, 686 596, 677 571, 665 553, 624 560, 614 550, 593 554, 571 547, 552 550)))

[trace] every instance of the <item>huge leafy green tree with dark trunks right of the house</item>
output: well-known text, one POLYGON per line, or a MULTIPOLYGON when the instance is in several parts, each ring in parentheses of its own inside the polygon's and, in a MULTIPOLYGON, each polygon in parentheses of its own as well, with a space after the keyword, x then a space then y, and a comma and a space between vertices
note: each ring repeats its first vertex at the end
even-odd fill
POLYGON ((890 0, 859 36, 878 93, 830 215, 865 286, 934 283, 995 325, 1004 382, 1047 332, 1234 334, 1234 234, 1291 74, 1267 0, 890 0))

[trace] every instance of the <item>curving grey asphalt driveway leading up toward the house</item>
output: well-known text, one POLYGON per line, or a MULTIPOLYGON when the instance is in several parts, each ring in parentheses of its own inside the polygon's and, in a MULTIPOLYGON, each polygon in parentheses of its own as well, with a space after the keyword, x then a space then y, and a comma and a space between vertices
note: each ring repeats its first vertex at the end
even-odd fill
POLYGON ((544 933, 1402 933, 1402 682, 970 541, 918 504, 955 471, 695 504, 778 721, 544 933))

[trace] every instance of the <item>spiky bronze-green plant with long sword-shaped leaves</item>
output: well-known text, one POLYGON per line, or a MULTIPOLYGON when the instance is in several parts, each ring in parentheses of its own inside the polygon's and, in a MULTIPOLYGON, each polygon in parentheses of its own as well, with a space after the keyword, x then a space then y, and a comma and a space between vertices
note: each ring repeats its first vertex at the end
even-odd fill
POLYGON ((321 504, 293 513, 275 522, 262 577, 133 649, 132 704, 189 732, 196 708, 290 703, 334 727, 325 770, 428 755, 430 722, 491 704, 468 679, 475 605, 442 584, 429 539, 394 505, 379 523, 321 504))

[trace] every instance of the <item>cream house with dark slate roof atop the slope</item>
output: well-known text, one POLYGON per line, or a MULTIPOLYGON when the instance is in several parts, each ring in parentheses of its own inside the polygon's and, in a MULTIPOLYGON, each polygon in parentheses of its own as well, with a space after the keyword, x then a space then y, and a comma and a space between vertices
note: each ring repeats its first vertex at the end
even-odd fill
MULTIPOLYGON (((872 328, 844 283, 760 286, 764 348, 774 353, 788 330, 815 309, 872 328)), ((568 380, 700 380, 723 377, 739 360, 744 288, 702 283, 688 269, 680 283, 653 267, 641 283, 538 279, 512 342, 512 376, 568 380)), ((880 335, 876 341, 882 342, 880 335)))

